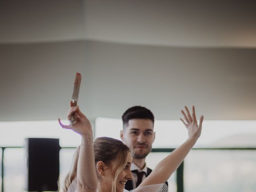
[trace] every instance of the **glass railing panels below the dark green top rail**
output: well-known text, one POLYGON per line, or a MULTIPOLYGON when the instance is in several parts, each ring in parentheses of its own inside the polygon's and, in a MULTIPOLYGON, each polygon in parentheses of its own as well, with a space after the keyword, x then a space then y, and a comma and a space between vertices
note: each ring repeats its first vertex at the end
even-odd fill
MULTIPOLYGON (((25 192, 26 154, 20 146, 2 149, 2 192, 25 192), (4 154, 4 155, 3 155, 4 154)), ((60 150, 60 180, 69 171, 74 147, 60 150)), ((173 148, 153 148, 147 166, 170 154, 173 148)), ((256 148, 193 148, 168 180, 169 192, 256 191, 256 148)))

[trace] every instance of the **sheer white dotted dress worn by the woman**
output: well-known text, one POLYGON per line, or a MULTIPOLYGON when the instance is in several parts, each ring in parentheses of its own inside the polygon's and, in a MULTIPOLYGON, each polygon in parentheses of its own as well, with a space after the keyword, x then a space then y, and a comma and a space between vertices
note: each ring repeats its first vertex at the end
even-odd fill
MULTIPOLYGON (((76 178, 72 181, 67 192, 77 192, 76 178)), ((98 190, 97 190, 97 192, 98 192, 98 190)), ((124 189, 124 192, 129 192, 129 191, 124 189)), ((155 185, 147 185, 147 186, 138 187, 136 189, 133 189, 130 192, 168 192, 168 186, 165 183, 155 184, 155 185)))

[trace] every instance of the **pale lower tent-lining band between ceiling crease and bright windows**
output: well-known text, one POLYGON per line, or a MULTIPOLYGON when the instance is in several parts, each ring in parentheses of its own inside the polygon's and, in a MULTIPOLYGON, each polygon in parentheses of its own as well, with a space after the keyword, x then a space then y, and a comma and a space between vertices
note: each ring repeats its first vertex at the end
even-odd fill
POLYGON ((75 72, 90 118, 140 104, 178 119, 194 104, 206 119, 253 120, 255 49, 172 48, 102 42, 2 45, 0 120, 65 117, 75 72))

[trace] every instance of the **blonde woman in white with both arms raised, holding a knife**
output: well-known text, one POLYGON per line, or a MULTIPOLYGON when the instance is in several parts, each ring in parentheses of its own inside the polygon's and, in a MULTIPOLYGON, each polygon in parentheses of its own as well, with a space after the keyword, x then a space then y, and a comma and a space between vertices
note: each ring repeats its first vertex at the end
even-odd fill
MULTIPOLYGON (((184 119, 180 119, 188 129, 188 139, 166 158, 160 161, 152 173, 134 192, 167 192, 164 184, 178 168, 190 149, 194 146, 202 130, 203 116, 196 120, 195 108, 192 116, 185 106, 184 119)), ((125 183, 132 179, 130 166, 132 155, 129 148, 113 138, 96 138, 93 141, 92 126, 79 107, 68 110, 68 119, 75 114, 76 123, 63 128, 72 129, 82 137, 81 145, 74 155, 73 165, 64 180, 63 192, 125 192, 125 183)))

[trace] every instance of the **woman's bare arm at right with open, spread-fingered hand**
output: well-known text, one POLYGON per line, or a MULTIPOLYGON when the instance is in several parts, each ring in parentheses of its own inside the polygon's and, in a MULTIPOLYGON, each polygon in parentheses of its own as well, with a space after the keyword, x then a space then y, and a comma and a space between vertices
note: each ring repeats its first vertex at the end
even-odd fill
POLYGON ((171 174, 178 168, 181 162, 184 160, 190 149, 194 146, 197 139, 199 138, 202 130, 203 116, 200 117, 199 125, 196 120, 195 108, 192 106, 192 116, 188 108, 185 106, 187 115, 182 110, 184 115, 184 120, 180 119, 183 124, 188 129, 188 139, 172 153, 170 153, 166 158, 160 161, 152 173, 139 185, 146 186, 152 184, 164 183, 170 178, 171 174))

